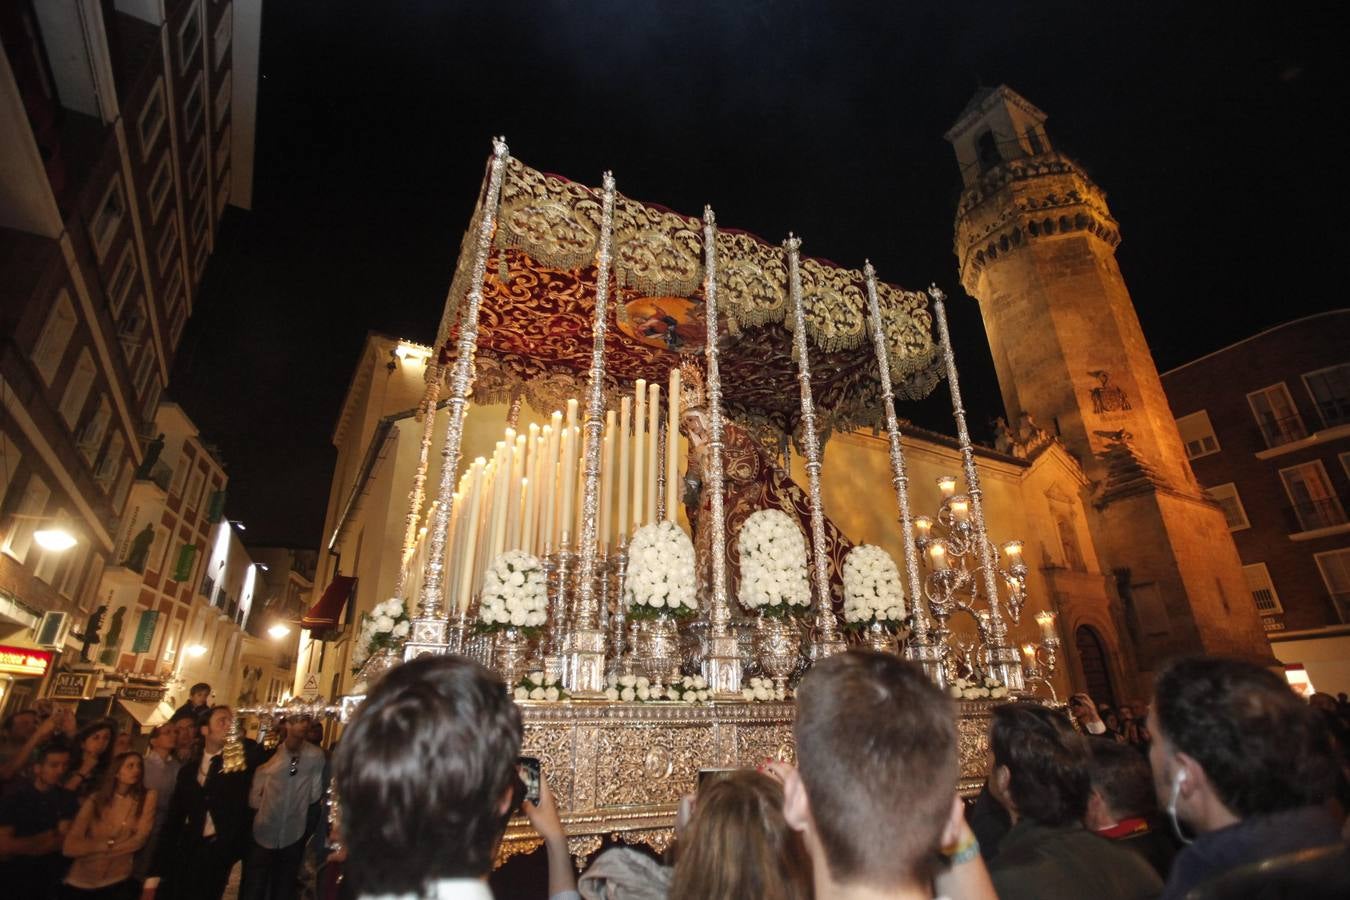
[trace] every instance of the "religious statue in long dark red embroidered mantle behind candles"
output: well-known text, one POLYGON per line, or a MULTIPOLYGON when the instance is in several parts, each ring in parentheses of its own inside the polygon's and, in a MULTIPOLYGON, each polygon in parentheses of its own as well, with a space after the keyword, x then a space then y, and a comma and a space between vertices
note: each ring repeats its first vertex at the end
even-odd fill
MULTIPOLYGON (((680 432, 688 439, 688 461, 684 474, 684 511, 694 532, 694 556, 698 564, 698 583, 705 596, 711 584, 713 553, 726 559, 726 595, 734 600, 740 587, 740 549, 737 536, 751 513, 778 509, 792 517, 806 536, 807 560, 811 560, 811 503, 786 471, 751 433, 736 422, 722 420, 722 513, 726 517, 726 546, 714 549, 713 529, 706 526, 711 509, 711 494, 703 490, 707 467, 710 420, 702 372, 694 366, 682 366, 683 399, 680 403, 680 432)), ((832 603, 842 609, 844 557, 853 544, 825 519, 826 556, 830 564, 832 603)), ((814 592, 815 582, 811 579, 814 592)))

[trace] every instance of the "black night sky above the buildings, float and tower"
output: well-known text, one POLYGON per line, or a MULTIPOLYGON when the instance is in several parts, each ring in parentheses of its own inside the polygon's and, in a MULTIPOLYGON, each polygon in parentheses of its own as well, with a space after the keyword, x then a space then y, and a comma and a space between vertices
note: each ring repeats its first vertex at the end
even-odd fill
MULTIPOLYGON (((367 331, 429 341, 490 138, 526 165, 950 296, 972 429, 1000 414, 952 254, 942 134, 979 85, 1110 194, 1160 368, 1345 305, 1339 4, 269 0, 254 209, 231 208, 169 397, 250 542, 317 546, 367 331), (1214 9, 1215 12, 1211 12, 1214 9), (1342 198, 1338 201, 1338 198, 1342 198), (1328 254, 1330 251, 1330 254, 1328 254)), ((950 432, 945 387, 902 414, 950 432)))

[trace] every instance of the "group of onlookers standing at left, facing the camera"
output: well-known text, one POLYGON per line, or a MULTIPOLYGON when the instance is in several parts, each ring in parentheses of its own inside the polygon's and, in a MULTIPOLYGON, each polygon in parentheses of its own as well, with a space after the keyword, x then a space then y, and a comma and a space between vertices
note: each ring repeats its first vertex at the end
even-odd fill
POLYGON ((225 770, 234 711, 209 698, 211 685, 193 685, 148 735, 111 719, 78 727, 59 707, 8 716, 0 891, 23 900, 219 900, 242 861, 243 900, 297 897, 306 846, 323 860, 323 725, 290 716, 274 749, 246 739, 243 768, 225 770))

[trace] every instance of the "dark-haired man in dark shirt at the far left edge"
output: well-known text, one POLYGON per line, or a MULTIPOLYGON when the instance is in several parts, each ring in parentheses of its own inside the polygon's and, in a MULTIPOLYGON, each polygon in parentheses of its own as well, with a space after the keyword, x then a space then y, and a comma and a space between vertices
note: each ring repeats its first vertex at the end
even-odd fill
POLYGON ((38 748, 32 777, 0 800, 0 888, 9 897, 57 896, 66 860, 61 845, 80 804, 61 787, 70 750, 53 742, 38 748))

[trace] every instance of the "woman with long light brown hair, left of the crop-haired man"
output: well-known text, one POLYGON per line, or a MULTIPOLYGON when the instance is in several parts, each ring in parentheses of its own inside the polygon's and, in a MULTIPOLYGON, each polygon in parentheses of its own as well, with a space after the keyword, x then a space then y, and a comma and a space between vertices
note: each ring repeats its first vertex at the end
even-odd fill
POLYGON ((738 769, 698 792, 670 900, 810 900, 811 861, 783 819, 783 785, 738 769))

